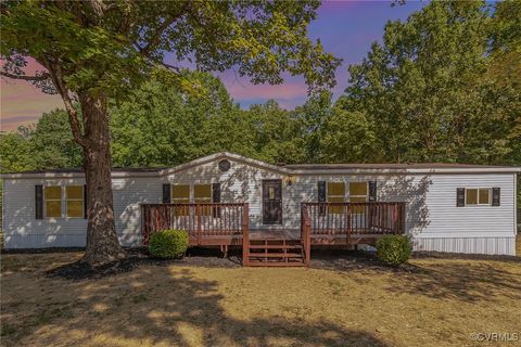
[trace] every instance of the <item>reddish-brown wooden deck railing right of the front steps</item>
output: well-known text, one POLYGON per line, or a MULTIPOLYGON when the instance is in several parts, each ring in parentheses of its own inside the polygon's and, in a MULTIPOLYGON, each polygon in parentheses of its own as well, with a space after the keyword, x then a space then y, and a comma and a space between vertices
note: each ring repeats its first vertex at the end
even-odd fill
POLYGON ((405 232, 405 203, 302 203, 312 236, 381 235, 405 232))

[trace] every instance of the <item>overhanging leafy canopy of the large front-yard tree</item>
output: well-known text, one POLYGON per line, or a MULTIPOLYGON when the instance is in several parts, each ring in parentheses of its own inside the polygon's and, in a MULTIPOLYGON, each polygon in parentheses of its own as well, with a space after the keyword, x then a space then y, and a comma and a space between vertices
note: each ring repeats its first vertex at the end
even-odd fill
MULTIPOLYGON (((280 83, 282 73, 303 75, 309 90, 317 90, 334 86, 340 65, 307 37, 319 4, 12 1, 2 3, 0 52, 34 57, 74 92, 116 99, 151 76, 192 89, 175 69, 165 74, 167 53, 194 61, 200 70, 233 67, 255 83, 280 83)), ((20 66, 15 73, 23 74, 20 66)))

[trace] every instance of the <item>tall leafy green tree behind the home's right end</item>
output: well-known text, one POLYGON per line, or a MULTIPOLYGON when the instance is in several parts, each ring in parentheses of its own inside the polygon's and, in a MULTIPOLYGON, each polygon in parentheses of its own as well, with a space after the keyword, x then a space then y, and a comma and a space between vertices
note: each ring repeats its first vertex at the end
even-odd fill
POLYGON ((350 66, 341 106, 372 124, 371 160, 520 159, 521 137, 512 131, 521 112, 519 83, 486 78, 495 55, 491 42, 494 52, 517 37, 511 33, 519 17, 503 16, 509 23, 499 26, 503 31, 495 25, 499 17, 484 2, 433 1, 405 23, 387 23, 383 43, 350 66))

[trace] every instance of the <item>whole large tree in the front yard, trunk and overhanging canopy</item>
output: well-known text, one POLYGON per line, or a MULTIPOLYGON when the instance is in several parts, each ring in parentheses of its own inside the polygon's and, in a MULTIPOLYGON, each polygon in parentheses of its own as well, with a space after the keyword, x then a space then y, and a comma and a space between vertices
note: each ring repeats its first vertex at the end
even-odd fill
POLYGON ((253 82, 304 75, 309 90, 334 85, 339 60, 307 38, 317 1, 9 1, 0 4, 2 76, 55 90, 84 152, 87 246, 91 266, 125 254, 117 241, 111 187, 107 100, 123 99, 150 76, 182 85, 164 63, 201 70, 237 68, 253 82), (25 74, 30 56, 46 70, 25 74), (160 67, 162 66, 162 67, 160 67), (77 100, 82 113, 73 106, 77 100))

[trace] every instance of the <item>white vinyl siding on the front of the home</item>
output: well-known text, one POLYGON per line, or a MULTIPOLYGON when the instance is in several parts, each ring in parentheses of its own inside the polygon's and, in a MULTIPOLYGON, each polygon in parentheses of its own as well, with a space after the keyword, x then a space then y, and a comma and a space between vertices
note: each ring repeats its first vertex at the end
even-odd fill
MULTIPOLYGON (((404 175, 292 175, 230 158, 220 171, 221 158, 177 170, 163 177, 113 178, 116 231, 125 246, 141 242, 142 203, 161 203, 164 183, 220 183, 223 203, 250 204, 250 229, 300 229, 301 202, 318 201, 318 181, 377 182, 377 201, 406 202, 406 231, 416 249, 511 254, 514 239, 514 174, 404 174, 404 175), (262 223, 262 181, 282 180, 282 226, 262 223), (500 188, 500 206, 456 207, 458 188, 500 188), (487 243, 486 240, 490 240, 487 243), (485 250, 483 250, 485 249, 485 250), (492 249, 492 250, 491 250, 492 249)), ((35 219, 35 184, 82 185, 82 178, 4 179, 5 246, 8 248, 85 246, 87 220, 35 219)), ((348 194, 346 194, 348 197, 348 194)), ((492 196, 490 197, 492 201, 492 196)), ((62 207, 65 214, 65 207, 62 207)))

